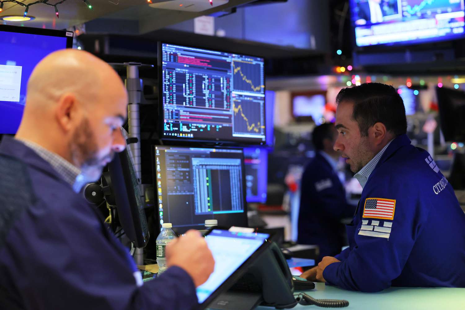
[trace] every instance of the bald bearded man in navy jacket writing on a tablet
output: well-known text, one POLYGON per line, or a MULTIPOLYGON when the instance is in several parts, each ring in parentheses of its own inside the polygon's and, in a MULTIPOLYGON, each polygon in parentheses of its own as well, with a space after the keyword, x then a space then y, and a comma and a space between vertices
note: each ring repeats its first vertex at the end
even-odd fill
POLYGON ((78 194, 126 142, 127 94, 105 62, 55 52, 31 74, 20 128, 0 144, 2 309, 196 309, 213 272, 195 231, 167 248, 171 266, 142 285, 132 257, 78 194))

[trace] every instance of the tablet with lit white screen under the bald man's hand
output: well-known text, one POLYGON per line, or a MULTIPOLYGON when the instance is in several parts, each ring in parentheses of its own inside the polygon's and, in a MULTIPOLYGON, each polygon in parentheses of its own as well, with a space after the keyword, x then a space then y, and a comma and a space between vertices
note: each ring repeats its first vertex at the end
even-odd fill
POLYGON ((197 298, 204 309, 219 294, 228 290, 247 267, 271 244, 270 235, 256 232, 232 232, 213 229, 206 236, 215 259, 215 269, 197 288, 197 298))

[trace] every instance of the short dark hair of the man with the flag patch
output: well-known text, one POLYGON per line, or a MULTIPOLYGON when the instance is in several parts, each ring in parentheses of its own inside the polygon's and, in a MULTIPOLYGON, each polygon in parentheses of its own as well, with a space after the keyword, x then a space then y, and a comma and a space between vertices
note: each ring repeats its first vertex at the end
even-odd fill
POLYGON ((382 83, 364 83, 341 89, 336 103, 352 102, 352 119, 359 124, 362 137, 368 136, 368 128, 380 122, 396 136, 407 132, 404 101, 396 89, 382 83))

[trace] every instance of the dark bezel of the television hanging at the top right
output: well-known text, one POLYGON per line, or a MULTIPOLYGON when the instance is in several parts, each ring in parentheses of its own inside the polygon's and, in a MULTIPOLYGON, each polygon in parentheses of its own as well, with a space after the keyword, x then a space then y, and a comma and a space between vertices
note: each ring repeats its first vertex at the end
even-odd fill
MULTIPOLYGON (((457 36, 453 39, 447 38, 447 37, 436 37, 436 38, 429 38, 426 40, 422 40, 421 42, 418 42, 416 40, 409 40, 409 41, 400 41, 400 42, 390 42, 390 43, 379 43, 379 44, 374 44, 374 45, 365 45, 365 46, 358 46, 357 45, 357 37, 355 34, 355 27, 353 23, 353 15, 352 15, 352 6, 355 0, 349 0, 349 20, 350 20, 350 28, 351 28, 351 39, 352 39, 352 47, 355 52, 385 52, 386 49, 405 49, 407 47, 418 47, 418 48, 426 48, 426 49, 431 49, 431 44, 441 44, 441 43, 448 43, 448 42, 454 42, 454 41, 459 41, 459 40, 464 40, 465 39, 465 32, 462 33, 461 36, 457 36)), ((464 10, 465 11, 465 10, 464 10)))

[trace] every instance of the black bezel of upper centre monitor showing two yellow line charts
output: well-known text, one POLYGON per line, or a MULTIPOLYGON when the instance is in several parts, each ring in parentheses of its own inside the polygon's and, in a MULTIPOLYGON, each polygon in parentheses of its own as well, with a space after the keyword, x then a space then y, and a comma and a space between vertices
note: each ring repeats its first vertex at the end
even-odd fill
MULTIPOLYGON (((244 139, 234 139, 234 140, 228 140, 228 139, 219 139, 219 138, 212 138, 212 139, 206 139, 206 138, 201 138, 201 139, 186 139, 186 138, 183 138, 183 137, 171 137, 171 138, 167 138, 167 137, 164 137, 164 133, 165 133, 165 115, 164 115, 164 110, 163 110, 163 77, 162 77, 162 71, 163 71, 163 68, 162 68, 162 53, 161 53, 161 48, 162 48, 162 44, 172 44, 172 45, 177 45, 177 46, 186 46, 186 47, 193 47, 193 48, 199 48, 199 49, 206 49, 206 50, 212 50, 212 51, 216 51, 216 52, 221 52, 221 53, 236 53, 236 52, 233 52, 233 51, 224 51, 224 50, 217 50, 217 49, 213 49, 213 48, 208 48, 208 47, 202 47, 202 46, 192 46, 192 45, 183 45, 183 44, 179 44, 179 43, 172 43, 172 42, 168 42, 168 41, 158 41, 158 53, 157 53, 157 57, 158 57, 158 60, 157 60, 157 65, 158 65, 158 101, 159 101, 159 104, 158 104, 158 115, 159 115, 159 124, 158 124, 158 129, 159 129, 159 139, 161 141, 169 141, 170 143, 176 143, 176 141, 178 142, 183 142, 183 141, 186 141, 186 142, 196 142, 196 143, 211 143, 211 144, 216 144, 216 145, 220 145, 220 146, 223 146, 223 145, 231 145, 231 146, 240 146, 240 145, 245 145, 245 146, 249 146, 249 145, 261 145, 261 146, 266 146, 266 128, 265 128, 265 141, 259 141, 259 139, 256 139, 257 141, 251 141, 251 140, 244 140, 244 139)), ((237 54, 240 54, 240 55, 245 55, 245 54, 242 54, 242 53, 237 53, 237 54)), ((258 58, 263 58, 263 84, 265 85, 264 87, 264 95, 265 95, 265 92, 266 92, 266 74, 265 74, 265 68, 266 68, 266 59, 265 57, 263 56, 258 56, 258 55, 252 55, 252 54, 247 54, 246 56, 251 56, 251 57, 258 57, 258 58)), ((266 96, 263 97, 263 104, 264 104, 264 113, 263 113, 263 120, 264 120, 264 123, 266 125, 266 96)))

